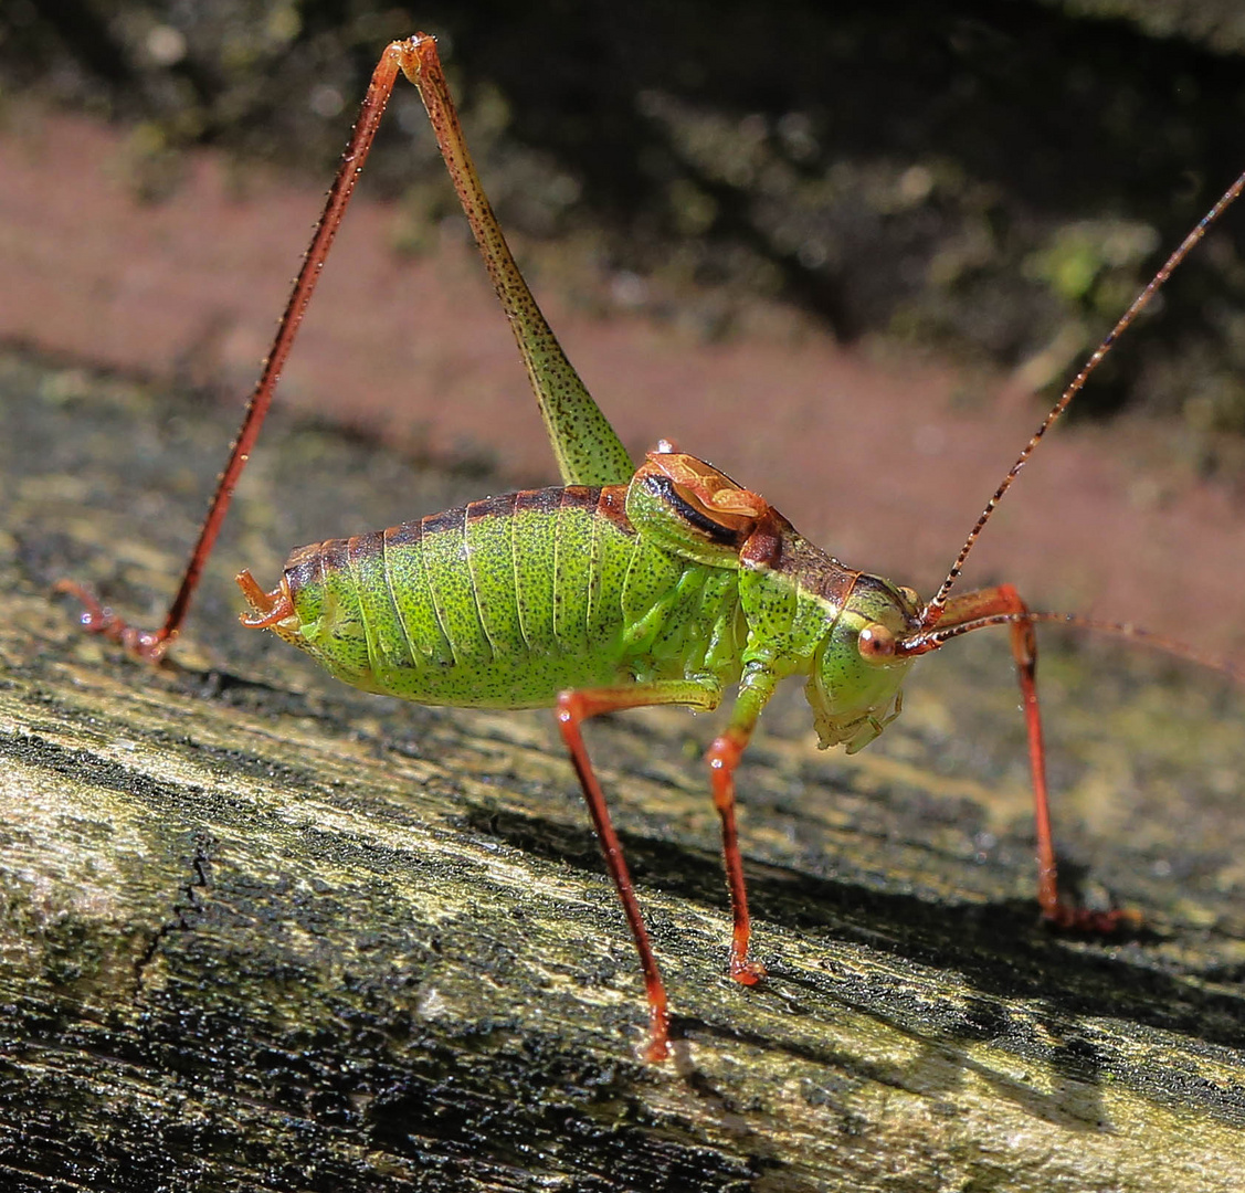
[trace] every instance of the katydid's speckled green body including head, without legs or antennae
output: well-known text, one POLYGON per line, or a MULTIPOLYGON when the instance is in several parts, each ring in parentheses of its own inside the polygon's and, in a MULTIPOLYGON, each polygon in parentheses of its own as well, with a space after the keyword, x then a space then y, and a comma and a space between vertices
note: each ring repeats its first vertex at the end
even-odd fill
POLYGON ((296 550, 294 615, 273 628, 339 679, 421 704, 549 706, 571 689, 808 676, 823 745, 858 748, 891 715, 906 664, 865 661, 868 624, 915 614, 784 521, 759 547, 697 523, 669 484, 509 493, 296 550), (688 521, 691 519, 691 521, 688 521))

